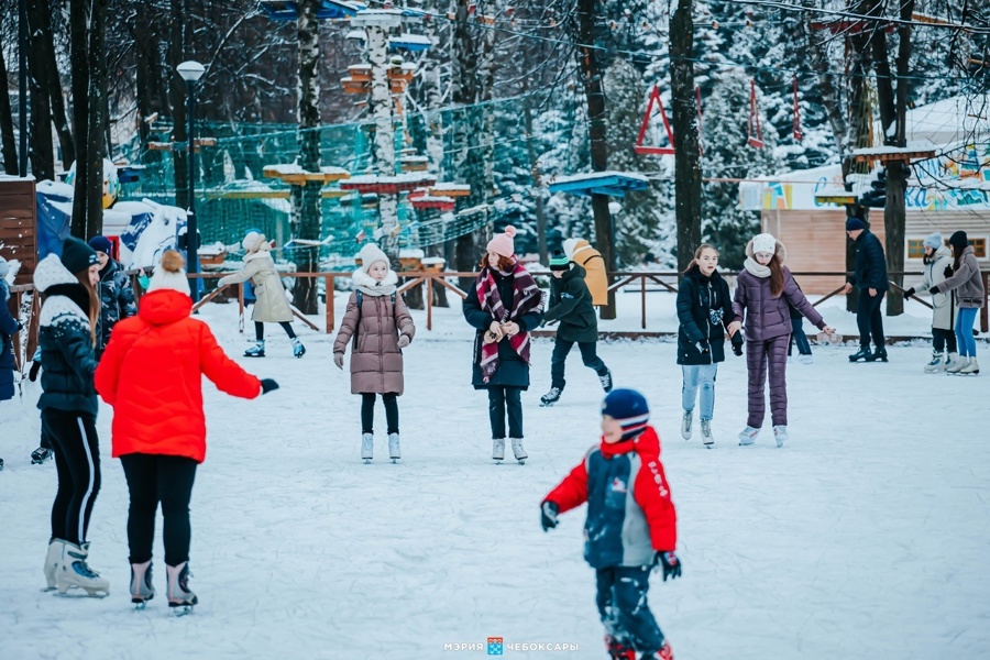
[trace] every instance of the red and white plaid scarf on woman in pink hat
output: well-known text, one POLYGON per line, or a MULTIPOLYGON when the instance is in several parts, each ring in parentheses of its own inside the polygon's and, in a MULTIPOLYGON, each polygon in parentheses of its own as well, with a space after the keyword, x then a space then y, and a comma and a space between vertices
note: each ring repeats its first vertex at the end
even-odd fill
MULTIPOLYGON (((532 275, 516 263, 510 275, 504 277, 513 278, 513 308, 507 310, 502 304, 502 296, 498 295, 498 286, 495 284, 495 274, 491 266, 482 268, 477 276, 475 287, 477 288, 477 300, 481 308, 492 315, 492 318, 499 323, 506 321, 519 322, 527 314, 539 309, 543 304, 543 293, 537 286, 532 275)), ((529 364, 529 332, 521 331, 513 337, 507 337, 509 345, 529 364)), ((498 344, 501 342, 484 343, 482 342, 482 360, 481 370, 485 383, 498 371, 498 344)))

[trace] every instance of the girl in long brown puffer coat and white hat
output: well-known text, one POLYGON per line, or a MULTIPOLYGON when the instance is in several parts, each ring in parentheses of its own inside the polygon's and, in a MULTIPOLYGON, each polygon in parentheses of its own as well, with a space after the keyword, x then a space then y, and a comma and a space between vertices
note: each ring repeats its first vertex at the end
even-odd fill
POLYGON ((343 369, 343 354, 352 343, 351 394, 361 395, 361 458, 367 463, 373 455, 375 395, 381 394, 388 457, 395 462, 402 458, 396 397, 404 386, 403 349, 413 341, 416 328, 406 302, 396 293, 398 276, 388 267, 385 253, 369 243, 358 258, 361 267, 351 276, 354 293, 333 342, 333 364, 343 369))

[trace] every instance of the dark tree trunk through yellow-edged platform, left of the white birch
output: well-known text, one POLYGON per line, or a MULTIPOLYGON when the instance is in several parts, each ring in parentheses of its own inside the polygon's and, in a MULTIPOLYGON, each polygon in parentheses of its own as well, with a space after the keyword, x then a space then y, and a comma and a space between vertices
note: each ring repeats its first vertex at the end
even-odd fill
MULTIPOLYGON (((302 0, 299 3, 297 22, 299 38, 299 155, 306 172, 320 170, 320 24, 316 12, 318 0, 302 0)), ((319 241, 322 232, 322 209, 320 207, 319 182, 307 182, 299 196, 300 239, 319 241)), ((319 270, 319 248, 297 251, 296 266, 301 272, 315 273, 319 270)), ((297 278, 293 288, 293 302, 304 314, 316 314, 318 309, 317 280, 297 278)), ((327 292, 327 305, 333 305, 333 292, 327 292)))

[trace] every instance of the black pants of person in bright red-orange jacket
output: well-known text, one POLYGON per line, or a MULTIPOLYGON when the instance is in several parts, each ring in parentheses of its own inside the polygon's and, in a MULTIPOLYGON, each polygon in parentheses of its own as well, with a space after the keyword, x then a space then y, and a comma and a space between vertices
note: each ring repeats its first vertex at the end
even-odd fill
POLYGON ((189 561, 189 498, 196 480, 196 461, 186 457, 133 453, 120 458, 131 494, 128 509, 128 546, 131 563, 152 558, 155 512, 162 503, 165 519, 165 563, 177 566, 189 561))

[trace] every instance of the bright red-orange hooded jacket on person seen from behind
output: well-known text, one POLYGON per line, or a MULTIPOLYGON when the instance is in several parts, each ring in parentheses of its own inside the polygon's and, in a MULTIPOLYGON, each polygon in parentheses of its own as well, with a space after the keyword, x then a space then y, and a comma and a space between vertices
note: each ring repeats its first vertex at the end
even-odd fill
POLYGON ((113 458, 129 453, 206 458, 202 376, 243 398, 261 381, 228 358, 209 326, 189 318, 193 299, 170 289, 141 298, 138 316, 113 327, 96 388, 113 406, 113 458))

